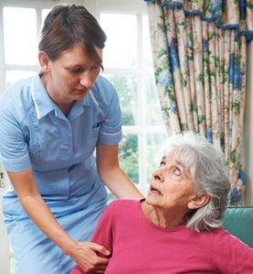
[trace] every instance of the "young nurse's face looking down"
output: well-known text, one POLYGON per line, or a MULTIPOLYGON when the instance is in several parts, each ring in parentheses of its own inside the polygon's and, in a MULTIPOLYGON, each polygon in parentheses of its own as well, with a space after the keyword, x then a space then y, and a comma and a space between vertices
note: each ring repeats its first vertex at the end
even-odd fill
MULTIPOLYGON (((96 51, 102 60, 102 49, 96 51)), ((80 45, 63 51, 57 60, 48 61, 47 92, 58 103, 84 98, 100 74, 100 65, 80 45)))

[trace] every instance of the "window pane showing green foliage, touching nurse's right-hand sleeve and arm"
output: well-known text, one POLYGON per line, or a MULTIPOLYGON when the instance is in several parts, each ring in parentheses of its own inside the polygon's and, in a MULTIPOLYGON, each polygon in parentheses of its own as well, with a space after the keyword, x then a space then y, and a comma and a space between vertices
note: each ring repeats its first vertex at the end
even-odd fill
POLYGON ((120 142, 121 168, 135 184, 139 182, 138 137, 134 134, 123 134, 120 142))

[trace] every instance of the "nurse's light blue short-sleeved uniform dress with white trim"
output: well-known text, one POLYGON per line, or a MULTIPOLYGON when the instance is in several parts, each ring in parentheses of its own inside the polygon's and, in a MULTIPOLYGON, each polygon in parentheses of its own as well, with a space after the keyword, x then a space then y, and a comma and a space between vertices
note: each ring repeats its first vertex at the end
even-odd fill
MULTIPOLYGON (((96 143, 121 140, 121 110, 111 83, 100 76, 66 117, 38 75, 16 82, 1 98, 0 140, 5 170, 32 168, 58 223, 76 240, 89 240, 107 200, 97 174, 96 143)), ((75 262, 33 224, 14 189, 5 193, 3 205, 16 273, 69 273, 75 262)))

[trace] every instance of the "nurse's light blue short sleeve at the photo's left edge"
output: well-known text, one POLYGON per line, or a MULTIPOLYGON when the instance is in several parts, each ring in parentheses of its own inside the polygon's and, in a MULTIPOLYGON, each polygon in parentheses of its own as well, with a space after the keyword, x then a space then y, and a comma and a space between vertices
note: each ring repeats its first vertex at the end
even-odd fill
POLYGON ((5 94, 0 100, 0 157, 6 171, 20 172, 30 167, 30 157, 15 101, 5 94))

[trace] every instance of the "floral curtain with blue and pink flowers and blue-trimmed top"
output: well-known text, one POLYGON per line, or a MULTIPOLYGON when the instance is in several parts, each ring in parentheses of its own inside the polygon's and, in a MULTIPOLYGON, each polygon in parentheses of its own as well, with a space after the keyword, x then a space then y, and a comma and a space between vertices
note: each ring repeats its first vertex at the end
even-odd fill
POLYGON ((153 64, 163 118, 173 132, 200 132, 222 148, 240 204, 241 142, 252 0, 149 1, 153 64))

